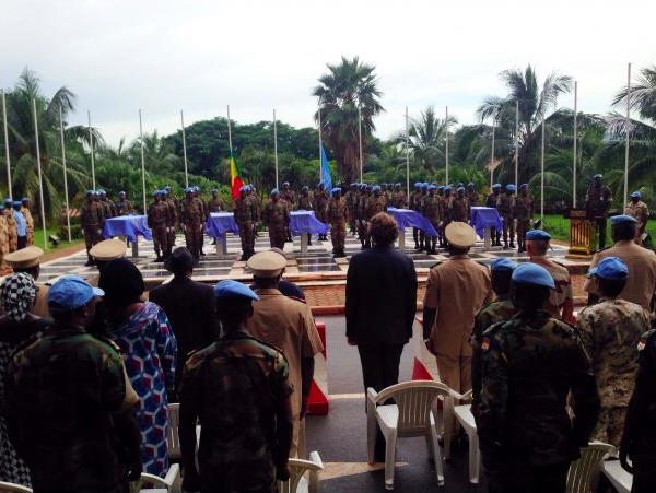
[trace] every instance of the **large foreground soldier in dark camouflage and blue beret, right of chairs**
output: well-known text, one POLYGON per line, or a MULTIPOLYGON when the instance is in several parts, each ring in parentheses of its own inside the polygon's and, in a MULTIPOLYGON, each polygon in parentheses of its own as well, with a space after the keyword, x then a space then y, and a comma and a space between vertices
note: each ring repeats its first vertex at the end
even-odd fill
POLYGON ((595 378, 576 329, 542 309, 553 289, 549 272, 524 263, 512 280, 519 312, 489 328, 481 341, 478 435, 488 489, 564 492, 570 463, 597 422, 595 378))

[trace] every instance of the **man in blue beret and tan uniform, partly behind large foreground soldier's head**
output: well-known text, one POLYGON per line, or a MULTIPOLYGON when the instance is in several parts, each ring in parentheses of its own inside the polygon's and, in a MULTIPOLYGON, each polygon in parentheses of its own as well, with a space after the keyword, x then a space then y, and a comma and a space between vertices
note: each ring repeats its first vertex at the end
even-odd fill
POLYGON ((553 278, 555 289, 549 293, 544 309, 553 318, 560 318, 572 324, 574 314, 574 295, 572 293, 572 278, 570 271, 547 258, 551 235, 542 230, 531 230, 526 234, 526 253, 532 263, 542 266, 553 278))

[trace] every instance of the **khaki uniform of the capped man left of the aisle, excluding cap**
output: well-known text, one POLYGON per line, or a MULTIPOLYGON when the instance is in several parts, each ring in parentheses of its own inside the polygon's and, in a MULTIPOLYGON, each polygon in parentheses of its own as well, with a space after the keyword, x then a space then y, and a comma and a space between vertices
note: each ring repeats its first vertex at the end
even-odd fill
POLYGON ((259 301, 253 302, 254 314, 248 319, 248 332, 282 351, 290 364, 290 383, 294 387, 292 414, 294 438, 291 456, 298 446, 298 427, 302 407, 301 361, 314 357, 324 350, 309 306, 292 300, 276 289, 256 289, 259 301))

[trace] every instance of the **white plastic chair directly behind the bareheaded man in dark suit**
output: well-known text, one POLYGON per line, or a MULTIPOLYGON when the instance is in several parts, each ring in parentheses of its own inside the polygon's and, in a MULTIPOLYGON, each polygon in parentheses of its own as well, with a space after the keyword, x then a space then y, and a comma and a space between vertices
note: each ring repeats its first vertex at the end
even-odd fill
POLYGON ((437 444, 437 429, 433 408, 438 396, 449 396, 450 389, 438 382, 413 380, 396 384, 380 392, 368 388, 367 406, 367 455, 374 461, 376 439, 376 422, 385 436, 385 488, 394 490, 394 466, 396 460, 397 438, 424 436, 429 456, 435 461, 437 484, 444 484, 442 456, 437 444), (387 400, 394 404, 380 404, 387 400))

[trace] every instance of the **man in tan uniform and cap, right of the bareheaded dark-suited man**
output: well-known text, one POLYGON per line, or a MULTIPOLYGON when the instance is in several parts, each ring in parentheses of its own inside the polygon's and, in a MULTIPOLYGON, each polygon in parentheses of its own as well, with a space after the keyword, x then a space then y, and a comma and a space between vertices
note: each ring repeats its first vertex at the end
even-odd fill
POLYGON ((488 268, 467 255, 476 243, 473 228, 454 222, 444 232, 450 255, 429 273, 423 302, 424 341, 437 357, 442 383, 464 394, 471 388, 469 337, 473 318, 492 300, 492 282, 488 268))

